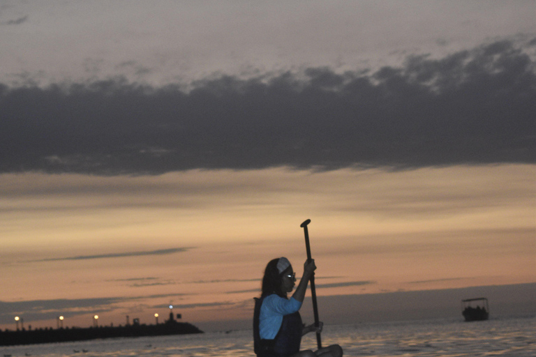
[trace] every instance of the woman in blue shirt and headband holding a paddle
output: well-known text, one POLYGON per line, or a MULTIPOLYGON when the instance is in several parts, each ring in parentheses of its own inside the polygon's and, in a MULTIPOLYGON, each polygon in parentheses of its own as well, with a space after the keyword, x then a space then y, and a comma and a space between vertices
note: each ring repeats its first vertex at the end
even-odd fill
POLYGON ((316 269, 315 261, 305 262, 304 274, 291 298, 287 294, 294 289, 296 273, 287 258, 272 259, 262 278, 262 293, 255 298, 253 314, 253 340, 258 357, 340 357, 343 349, 338 344, 317 351, 299 351, 301 336, 322 331, 322 322, 303 326, 299 308, 304 302, 307 284, 316 269))

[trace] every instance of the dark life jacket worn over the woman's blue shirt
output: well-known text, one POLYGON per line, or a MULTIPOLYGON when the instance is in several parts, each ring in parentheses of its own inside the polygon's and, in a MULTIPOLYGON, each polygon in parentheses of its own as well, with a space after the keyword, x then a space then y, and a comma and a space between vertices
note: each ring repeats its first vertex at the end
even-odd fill
POLYGON ((283 316, 281 327, 274 340, 260 338, 260 307, 265 296, 255 299, 253 310, 253 346, 258 357, 288 357, 299 352, 301 343, 301 316, 299 312, 283 316))

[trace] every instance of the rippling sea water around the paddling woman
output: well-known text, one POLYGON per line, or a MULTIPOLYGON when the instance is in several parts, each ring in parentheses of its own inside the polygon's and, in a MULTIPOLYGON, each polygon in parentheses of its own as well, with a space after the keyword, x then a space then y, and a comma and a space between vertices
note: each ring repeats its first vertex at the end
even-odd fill
MULTIPOLYGON (((403 321, 325 326, 322 344, 345 356, 536 356, 536 319, 403 321)), ((314 348, 315 335, 302 340, 314 348)), ((1 356, 237 356, 254 357, 251 331, 0 347, 1 356)))

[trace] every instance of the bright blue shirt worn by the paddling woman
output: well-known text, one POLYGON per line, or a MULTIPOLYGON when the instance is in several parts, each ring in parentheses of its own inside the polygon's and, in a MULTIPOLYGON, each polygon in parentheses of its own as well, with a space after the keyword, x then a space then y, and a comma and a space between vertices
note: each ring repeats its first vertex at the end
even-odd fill
POLYGON ((283 316, 297 312, 301 303, 295 298, 282 298, 277 294, 271 294, 262 301, 259 315, 260 338, 273 340, 276 337, 283 316))

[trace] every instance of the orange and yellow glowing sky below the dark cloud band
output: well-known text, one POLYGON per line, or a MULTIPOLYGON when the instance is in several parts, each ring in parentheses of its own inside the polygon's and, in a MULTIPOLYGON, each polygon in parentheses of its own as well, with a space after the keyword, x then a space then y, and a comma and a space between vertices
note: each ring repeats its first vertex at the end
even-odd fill
MULTIPOLYGON (((299 275, 306 218, 323 296, 535 282, 534 177, 534 165, 4 174, 0 301, 106 298, 99 324, 154 321, 170 303, 185 321, 246 319, 269 259, 299 275)), ((71 326, 95 315, 60 313, 71 326)))

